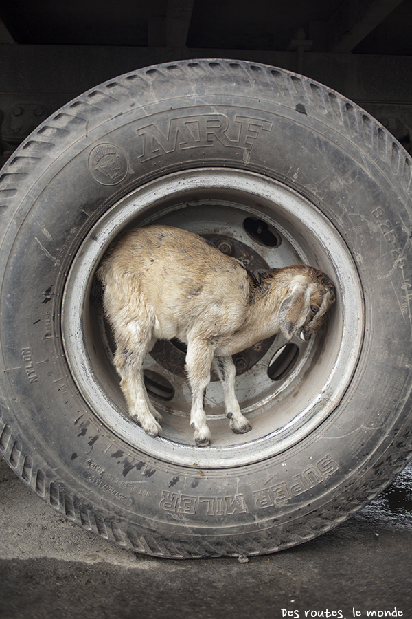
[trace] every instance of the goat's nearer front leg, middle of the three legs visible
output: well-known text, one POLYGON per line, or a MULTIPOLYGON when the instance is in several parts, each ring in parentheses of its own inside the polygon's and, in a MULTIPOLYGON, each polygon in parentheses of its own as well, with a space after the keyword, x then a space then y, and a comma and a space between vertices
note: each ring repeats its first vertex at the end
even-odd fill
POLYGON ((187 345, 186 370, 192 391, 190 426, 198 447, 210 445, 211 434, 206 423, 205 393, 210 382, 213 348, 207 340, 190 340, 187 345))

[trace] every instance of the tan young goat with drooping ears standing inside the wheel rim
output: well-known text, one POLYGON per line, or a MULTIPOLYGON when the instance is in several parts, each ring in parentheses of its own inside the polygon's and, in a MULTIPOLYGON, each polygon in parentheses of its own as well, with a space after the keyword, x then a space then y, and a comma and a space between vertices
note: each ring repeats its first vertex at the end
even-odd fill
POLYGON ((98 277, 116 342, 114 365, 128 414, 152 437, 161 415, 152 406, 142 363, 157 338, 187 343, 190 425, 198 447, 210 444, 205 390, 213 365, 233 432, 251 430, 234 391, 231 356, 279 331, 314 337, 335 299, 323 272, 303 264, 252 274, 198 235, 171 226, 127 232, 109 248, 98 277))

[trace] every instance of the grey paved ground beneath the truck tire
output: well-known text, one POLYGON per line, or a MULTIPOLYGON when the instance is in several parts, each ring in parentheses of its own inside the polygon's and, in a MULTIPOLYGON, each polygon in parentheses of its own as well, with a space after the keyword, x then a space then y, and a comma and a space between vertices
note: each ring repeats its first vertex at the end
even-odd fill
POLYGON ((2 460, 0 509, 1 619, 412 618, 412 466, 350 521, 249 563, 122 550, 66 521, 2 460))

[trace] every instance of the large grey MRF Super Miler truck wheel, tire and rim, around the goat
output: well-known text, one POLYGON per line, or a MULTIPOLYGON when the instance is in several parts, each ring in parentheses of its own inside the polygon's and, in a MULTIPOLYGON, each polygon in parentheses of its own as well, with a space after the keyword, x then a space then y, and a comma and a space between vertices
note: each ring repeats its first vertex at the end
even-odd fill
POLYGON ((0 450, 52 508, 137 552, 275 552, 371 501, 411 456, 412 160, 313 80, 179 61, 95 87, 0 177, 0 450), (252 431, 212 380, 192 442, 179 343, 158 343, 149 437, 127 415, 94 273, 126 228, 198 232, 251 268, 310 263, 337 301, 315 340, 236 358, 252 431))

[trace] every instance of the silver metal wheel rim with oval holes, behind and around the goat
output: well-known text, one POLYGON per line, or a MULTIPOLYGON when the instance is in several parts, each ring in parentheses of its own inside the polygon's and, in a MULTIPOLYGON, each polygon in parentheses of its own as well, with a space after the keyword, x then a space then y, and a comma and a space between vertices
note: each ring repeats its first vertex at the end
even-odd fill
MULTIPOLYGON (((266 239, 267 240, 267 239, 266 239)), ((78 389, 114 435, 145 453, 187 466, 222 468, 282 453, 314 430, 339 404, 356 367, 363 338, 363 296, 350 252, 331 222, 288 186, 234 169, 196 169, 152 181, 119 200, 95 224, 73 259, 62 299, 65 354, 78 389), (279 235, 278 247, 253 237, 247 219, 279 235), (233 434, 217 382, 207 387, 209 448, 194 446, 190 393, 183 376, 146 356, 146 386, 163 414, 162 433, 148 437, 126 415, 102 311, 91 299, 93 275, 120 232, 152 223, 244 243, 271 267, 296 262, 324 270, 336 303, 323 334, 309 343, 277 335, 263 356, 236 380, 242 413, 253 429, 233 434), (274 380, 275 378, 275 380, 274 380), (153 387, 150 391, 150 385, 153 387), (171 397, 166 397, 165 394, 171 397), (161 398, 159 398, 159 395, 161 398)))

